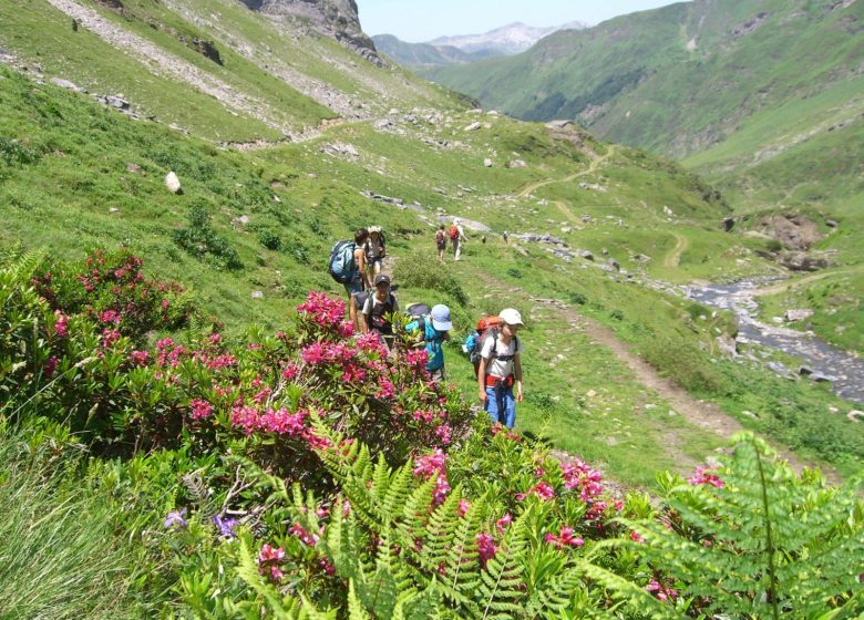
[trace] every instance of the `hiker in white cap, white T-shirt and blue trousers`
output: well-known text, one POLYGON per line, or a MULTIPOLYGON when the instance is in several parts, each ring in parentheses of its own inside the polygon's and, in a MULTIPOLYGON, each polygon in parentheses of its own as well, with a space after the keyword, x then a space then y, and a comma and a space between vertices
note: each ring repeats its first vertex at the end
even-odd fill
POLYGON ((516 423, 516 403, 522 402, 522 343, 516 332, 524 323, 518 310, 513 308, 505 308, 498 317, 501 328, 485 335, 480 350, 477 391, 483 409, 492 421, 513 428, 516 423))

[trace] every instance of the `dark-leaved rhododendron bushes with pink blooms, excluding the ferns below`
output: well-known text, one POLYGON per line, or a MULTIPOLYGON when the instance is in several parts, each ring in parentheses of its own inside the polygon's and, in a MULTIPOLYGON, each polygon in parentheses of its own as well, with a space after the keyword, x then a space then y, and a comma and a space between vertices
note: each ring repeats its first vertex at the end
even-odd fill
POLYGON ((326 442, 312 415, 394 462, 464 433, 466 407, 430 382, 423 355, 388 356, 374 334, 354 338, 342 301, 310 292, 292 328, 229 342, 176 332, 193 312, 182 287, 147 280, 141 267, 128 252, 99 251, 81 270, 39 270, 31 288, 4 289, 13 310, 4 320, 19 330, 2 351, 16 402, 37 399, 97 448, 233 442, 298 477, 326 442))

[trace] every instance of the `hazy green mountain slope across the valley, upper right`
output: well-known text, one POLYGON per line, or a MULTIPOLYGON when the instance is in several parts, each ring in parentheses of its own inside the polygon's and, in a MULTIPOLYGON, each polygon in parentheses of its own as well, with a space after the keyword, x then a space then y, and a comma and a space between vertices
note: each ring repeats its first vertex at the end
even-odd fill
POLYGON ((784 185, 774 168, 844 202, 864 189, 850 175, 864 155, 863 29, 862 2, 697 0, 424 74, 521 118, 572 117, 606 140, 683 158, 747 203, 808 202, 770 192, 784 185), (814 140, 848 154, 829 179, 806 156, 814 140))

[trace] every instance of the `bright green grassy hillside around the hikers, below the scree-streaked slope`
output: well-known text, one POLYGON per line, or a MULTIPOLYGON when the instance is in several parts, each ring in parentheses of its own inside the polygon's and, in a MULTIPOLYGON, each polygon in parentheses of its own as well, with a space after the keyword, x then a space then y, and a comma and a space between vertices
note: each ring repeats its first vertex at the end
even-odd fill
MULTIPOLYGON (((533 379, 521 427, 592 455, 627 484, 650 485, 657 471, 686 469, 722 440, 685 417, 670 418, 662 395, 646 389, 605 345, 570 327, 560 332, 572 320, 534 298, 573 304, 702 397, 731 399, 724 406, 742 424, 753 425, 741 412, 754 405, 749 392, 732 389, 740 373, 749 382, 775 381, 758 365, 727 362, 719 372, 708 362, 717 354, 714 337, 734 329, 728 317, 700 323, 693 318, 710 312, 636 283, 650 276, 683 281, 767 269, 757 255, 767 241, 719 231, 726 207, 672 163, 598 143, 578 130, 562 134, 500 116, 435 111, 422 120, 393 116, 384 128, 344 123, 317 140, 243 153, 130 121, 86 95, 17 73, 3 72, 2 79, 6 248, 47 247, 56 258, 74 258, 92 247, 128 246, 144 257, 148 272, 189 287, 205 314, 239 333, 253 326, 278 329, 310 289, 343 294, 322 269, 330 245, 357 227, 383 225, 403 303, 451 304, 460 335, 481 313, 497 311, 501 290, 510 290, 506 302, 522 308, 534 326, 525 335, 535 351, 526 358, 533 379), (481 128, 464 131, 474 121, 481 128), (331 148, 340 144, 357 155, 331 148), (525 165, 510 165, 516 158, 525 165), (163 186, 172 169, 182 195, 163 186), (424 213, 367 198, 362 190, 415 203, 424 213), (492 228, 485 244, 472 234, 464 268, 433 267, 436 214, 492 228), (202 235, 189 237, 193 229, 202 235), (500 238, 504 230, 551 232, 596 258, 567 264, 542 244, 513 239, 507 247, 500 238), (607 257, 630 276, 601 269, 607 257), (418 276, 423 272, 434 277, 418 276), (678 363, 683 351, 695 355, 686 365, 678 363), (583 434, 570 432, 576 420, 583 434), (669 433, 689 437, 687 447, 669 433)), ((448 355, 454 381, 471 393, 470 368, 457 345, 448 355)), ((806 431, 825 403, 845 405, 815 386, 796 384, 794 391, 794 409, 786 411, 780 401, 789 388, 765 388, 760 410, 800 416, 799 425, 789 428, 764 413, 755 426, 805 456, 827 458, 841 471, 853 467, 854 442, 834 441, 841 420, 836 433, 806 431)))

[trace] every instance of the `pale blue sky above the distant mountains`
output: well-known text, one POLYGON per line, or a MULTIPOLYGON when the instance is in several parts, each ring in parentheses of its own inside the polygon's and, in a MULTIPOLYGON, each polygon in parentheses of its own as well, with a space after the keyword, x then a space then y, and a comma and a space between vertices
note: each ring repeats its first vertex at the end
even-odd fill
POLYGON ((597 24, 634 11, 672 4, 672 0, 357 0, 367 34, 395 34, 419 43, 438 37, 479 34, 521 21, 558 25, 597 24))

